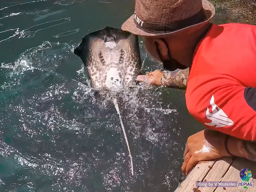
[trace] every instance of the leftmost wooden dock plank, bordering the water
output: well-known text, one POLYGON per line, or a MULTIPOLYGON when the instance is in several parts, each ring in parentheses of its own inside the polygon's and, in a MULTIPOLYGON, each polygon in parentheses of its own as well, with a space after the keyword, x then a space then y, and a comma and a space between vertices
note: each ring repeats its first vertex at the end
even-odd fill
POLYGON ((196 191, 196 181, 203 181, 207 173, 212 169, 212 166, 217 161, 200 161, 195 168, 188 174, 186 179, 174 192, 192 192, 196 191))

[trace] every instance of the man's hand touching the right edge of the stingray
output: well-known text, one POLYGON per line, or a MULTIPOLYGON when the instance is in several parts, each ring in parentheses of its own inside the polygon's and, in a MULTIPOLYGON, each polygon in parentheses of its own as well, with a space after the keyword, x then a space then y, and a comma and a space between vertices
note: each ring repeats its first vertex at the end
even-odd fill
POLYGON ((150 85, 161 85, 161 77, 164 75, 164 72, 162 72, 159 69, 156 69, 153 72, 147 72, 147 75, 139 75, 137 77, 138 81, 145 81, 150 85))

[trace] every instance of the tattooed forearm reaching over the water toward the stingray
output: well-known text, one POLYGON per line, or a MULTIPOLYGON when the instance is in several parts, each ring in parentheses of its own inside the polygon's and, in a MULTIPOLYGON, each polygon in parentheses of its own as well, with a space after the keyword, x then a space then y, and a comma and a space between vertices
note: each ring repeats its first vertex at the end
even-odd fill
POLYGON ((161 78, 161 84, 166 87, 186 89, 188 74, 189 68, 165 72, 163 77, 161 78))

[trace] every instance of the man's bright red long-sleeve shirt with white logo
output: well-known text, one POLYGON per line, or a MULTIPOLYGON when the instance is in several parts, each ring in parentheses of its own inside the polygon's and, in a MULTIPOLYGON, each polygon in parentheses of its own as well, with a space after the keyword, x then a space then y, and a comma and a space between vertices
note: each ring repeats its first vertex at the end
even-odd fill
POLYGON ((195 50, 186 104, 207 128, 256 140, 256 26, 212 24, 195 50))

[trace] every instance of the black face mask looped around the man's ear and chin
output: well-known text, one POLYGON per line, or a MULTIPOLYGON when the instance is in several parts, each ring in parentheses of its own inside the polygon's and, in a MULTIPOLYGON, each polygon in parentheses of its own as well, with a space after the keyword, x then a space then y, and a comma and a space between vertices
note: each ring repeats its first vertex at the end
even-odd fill
POLYGON ((186 69, 188 67, 184 66, 184 65, 181 65, 179 61, 177 61, 176 59, 173 59, 172 58, 172 55, 171 55, 171 52, 170 52, 170 49, 169 49, 169 46, 167 44, 167 42, 164 40, 164 39, 161 39, 165 46, 167 47, 168 49, 168 60, 165 60, 163 57, 162 57, 162 54, 160 52, 160 48, 159 48, 159 44, 157 42, 156 43, 156 51, 157 51, 157 54, 158 54, 158 57, 160 58, 161 62, 163 63, 163 67, 165 70, 168 70, 168 71, 175 71, 176 69, 186 69))

